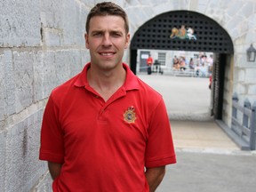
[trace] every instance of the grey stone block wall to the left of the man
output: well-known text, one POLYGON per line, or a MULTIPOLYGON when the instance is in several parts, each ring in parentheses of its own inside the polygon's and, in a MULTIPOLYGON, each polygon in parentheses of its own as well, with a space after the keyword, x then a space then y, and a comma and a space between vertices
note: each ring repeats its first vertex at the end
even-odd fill
POLYGON ((84 67, 89 1, 0 1, 0 191, 50 191, 38 161, 52 88, 84 67))

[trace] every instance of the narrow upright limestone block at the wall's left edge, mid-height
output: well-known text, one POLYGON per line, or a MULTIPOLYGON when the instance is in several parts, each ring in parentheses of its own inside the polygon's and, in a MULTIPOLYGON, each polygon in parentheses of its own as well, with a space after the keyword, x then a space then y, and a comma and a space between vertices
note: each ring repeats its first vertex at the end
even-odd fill
POLYGON ((15 77, 12 63, 12 51, 4 51, 4 89, 5 89, 5 113, 15 113, 15 77))

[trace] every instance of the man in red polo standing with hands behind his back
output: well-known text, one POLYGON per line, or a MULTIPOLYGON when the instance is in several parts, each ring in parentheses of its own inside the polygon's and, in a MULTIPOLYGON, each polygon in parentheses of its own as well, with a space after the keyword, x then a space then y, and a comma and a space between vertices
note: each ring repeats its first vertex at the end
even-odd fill
POLYGON ((44 111, 39 158, 54 192, 155 191, 176 162, 161 95, 122 62, 129 41, 124 10, 96 4, 86 21, 91 62, 52 91, 44 111))

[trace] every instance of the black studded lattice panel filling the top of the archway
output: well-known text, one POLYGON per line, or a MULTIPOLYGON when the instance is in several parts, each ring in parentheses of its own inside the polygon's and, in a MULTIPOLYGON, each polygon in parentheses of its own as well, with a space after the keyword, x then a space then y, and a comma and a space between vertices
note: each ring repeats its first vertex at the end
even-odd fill
POLYGON ((130 48, 131 50, 234 52, 230 36, 219 23, 201 13, 188 11, 164 12, 148 20, 132 37, 130 48), (172 36, 172 33, 177 33, 180 28, 187 30, 188 38, 172 36), (191 33, 188 33, 189 28, 192 29, 191 33))

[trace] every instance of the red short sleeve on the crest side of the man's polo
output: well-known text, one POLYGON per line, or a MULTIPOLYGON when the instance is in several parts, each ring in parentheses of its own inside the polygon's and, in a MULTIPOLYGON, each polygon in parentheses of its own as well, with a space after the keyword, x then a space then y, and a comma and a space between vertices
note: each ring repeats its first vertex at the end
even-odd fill
POLYGON ((157 167, 175 163, 171 124, 162 98, 150 117, 145 166, 157 167))

